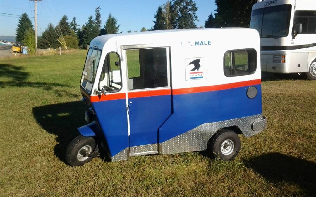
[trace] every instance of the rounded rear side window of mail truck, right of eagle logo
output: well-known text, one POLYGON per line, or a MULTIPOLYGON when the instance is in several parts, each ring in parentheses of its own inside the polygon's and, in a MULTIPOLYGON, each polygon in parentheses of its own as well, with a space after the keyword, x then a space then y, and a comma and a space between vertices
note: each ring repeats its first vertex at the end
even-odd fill
POLYGON ((224 55, 226 77, 249 75, 256 71, 257 52, 255 49, 228 51, 224 55))

